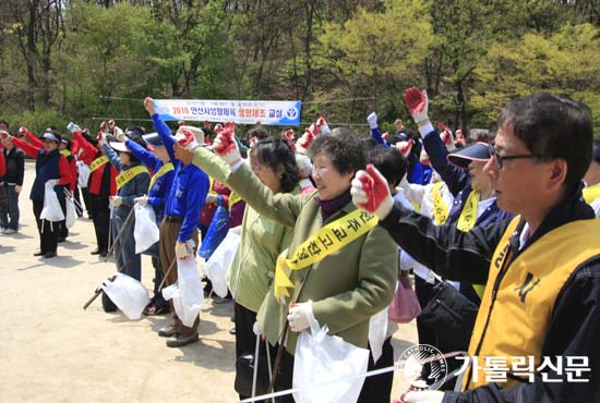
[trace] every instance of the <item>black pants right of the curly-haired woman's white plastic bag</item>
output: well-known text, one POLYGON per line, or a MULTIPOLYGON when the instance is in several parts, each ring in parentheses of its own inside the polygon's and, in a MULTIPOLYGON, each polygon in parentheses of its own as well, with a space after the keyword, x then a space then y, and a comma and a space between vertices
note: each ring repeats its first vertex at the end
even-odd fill
MULTIPOLYGON (((369 366, 367 370, 383 369, 394 365, 394 347, 392 346, 392 337, 385 339, 382 346, 382 354, 376 363, 373 362, 373 353, 369 347, 369 366)), ((394 373, 380 374, 364 379, 362 390, 358 398, 361 403, 389 403, 392 401, 392 383, 394 383, 394 373)))

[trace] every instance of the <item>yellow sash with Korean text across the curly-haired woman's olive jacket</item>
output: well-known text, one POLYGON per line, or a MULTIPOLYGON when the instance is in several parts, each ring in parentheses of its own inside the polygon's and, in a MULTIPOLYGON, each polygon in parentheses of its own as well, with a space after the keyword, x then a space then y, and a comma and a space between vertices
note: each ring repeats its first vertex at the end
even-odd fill
POLYGON ((273 292, 277 302, 289 297, 287 289, 293 289, 289 279, 292 270, 300 270, 323 260, 329 254, 341 249, 377 224, 377 218, 362 210, 355 210, 319 230, 300 244, 290 258, 285 258, 287 249, 277 258, 273 292))

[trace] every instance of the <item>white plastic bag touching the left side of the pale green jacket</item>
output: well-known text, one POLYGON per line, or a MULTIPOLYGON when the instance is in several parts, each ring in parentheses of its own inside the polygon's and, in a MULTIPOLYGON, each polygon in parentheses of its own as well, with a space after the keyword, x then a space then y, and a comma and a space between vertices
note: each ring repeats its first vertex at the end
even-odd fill
POLYGON ((213 283, 213 290, 221 298, 227 296, 227 270, 229 270, 231 260, 240 246, 240 235, 229 230, 227 236, 204 265, 204 272, 213 283))

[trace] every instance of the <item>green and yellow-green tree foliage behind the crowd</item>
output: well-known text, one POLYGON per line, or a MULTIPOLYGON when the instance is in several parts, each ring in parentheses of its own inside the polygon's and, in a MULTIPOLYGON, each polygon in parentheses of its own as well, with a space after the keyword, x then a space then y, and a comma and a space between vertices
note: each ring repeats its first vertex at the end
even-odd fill
POLYGON ((396 118, 411 124, 403 93, 419 86, 433 120, 466 129, 492 126, 508 100, 541 90, 584 100, 600 129, 593 1, 70 0, 62 30, 37 36, 41 54, 41 38, 60 34, 33 75, 19 36, 31 3, 8 1, 20 5, 2 14, 0 118, 13 126, 146 119, 141 100, 153 96, 301 99, 304 122, 364 123, 376 110, 393 130, 396 118))

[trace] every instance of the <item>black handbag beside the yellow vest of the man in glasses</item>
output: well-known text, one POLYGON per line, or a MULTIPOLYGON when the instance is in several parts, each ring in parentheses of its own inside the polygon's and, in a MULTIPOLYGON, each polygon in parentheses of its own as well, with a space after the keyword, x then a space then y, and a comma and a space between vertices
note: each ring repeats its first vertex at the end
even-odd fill
POLYGON ((451 350, 469 347, 479 307, 452 284, 441 281, 433 285, 433 296, 423 307, 419 320, 452 344, 451 350))

